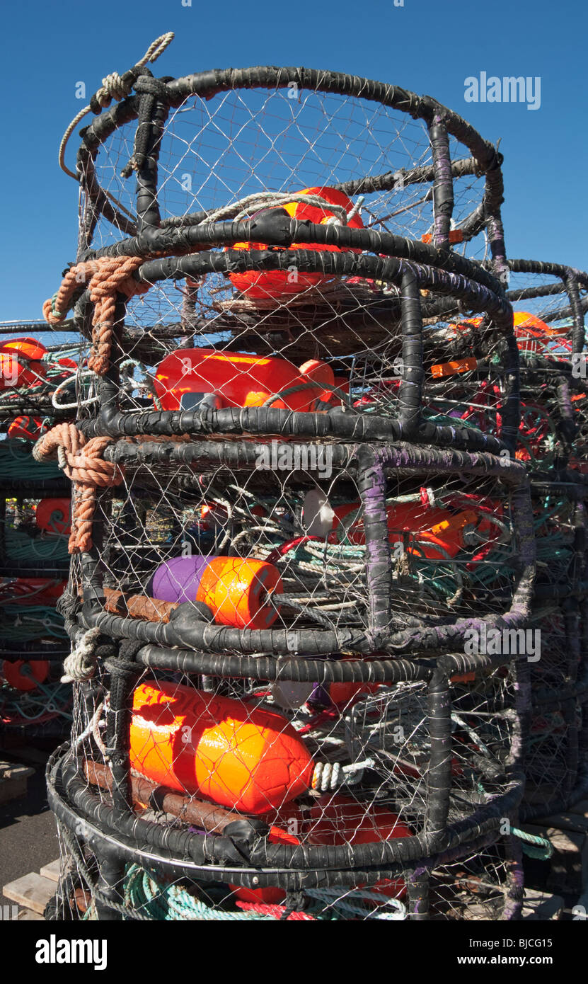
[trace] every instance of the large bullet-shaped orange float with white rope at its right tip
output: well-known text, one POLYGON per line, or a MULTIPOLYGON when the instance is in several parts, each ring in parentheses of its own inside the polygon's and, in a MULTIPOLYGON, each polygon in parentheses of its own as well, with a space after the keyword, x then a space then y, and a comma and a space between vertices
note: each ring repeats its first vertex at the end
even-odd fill
POLYGON ((152 782, 254 816, 306 792, 314 769, 281 714, 154 681, 135 690, 130 759, 152 782))

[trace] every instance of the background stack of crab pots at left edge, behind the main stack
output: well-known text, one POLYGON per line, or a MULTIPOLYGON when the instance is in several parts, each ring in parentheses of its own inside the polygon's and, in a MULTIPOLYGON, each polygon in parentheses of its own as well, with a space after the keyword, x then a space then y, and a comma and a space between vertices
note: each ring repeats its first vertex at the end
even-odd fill
POLYGON ((80 345, 42 322, 0 324, 0 337, 20 333, 0 338, 0 732, 29 740, 71 727, 71 687, 60 683, 70 646, 56 610, 69 572, 71 486, 57 462, 31 452, 77 407, 68 391, 71 400, 80 345))

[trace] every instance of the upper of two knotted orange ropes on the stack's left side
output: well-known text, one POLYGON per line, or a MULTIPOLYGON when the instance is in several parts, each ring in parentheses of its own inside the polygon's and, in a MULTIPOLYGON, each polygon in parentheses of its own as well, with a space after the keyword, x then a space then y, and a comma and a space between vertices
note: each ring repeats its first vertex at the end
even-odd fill
POLYGON ((65 319, 80 284, 89 281, 89 299, 94 305, 94 313, 88 368, 98 376, 103 376, 110 365, 117 293, 133 297, 149 288, 148 283, 138 283, 133 277, 144 262, 140 256, 103 256, 88 263, 79 263, 68 270, 57 293, 43 304, 45 321, 49 325, 59 325, 65 319))

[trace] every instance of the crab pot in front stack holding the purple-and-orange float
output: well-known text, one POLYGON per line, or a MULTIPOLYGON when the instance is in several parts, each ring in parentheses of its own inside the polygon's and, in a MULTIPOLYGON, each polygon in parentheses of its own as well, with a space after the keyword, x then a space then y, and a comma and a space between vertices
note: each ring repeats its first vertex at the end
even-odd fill
POLYGON ((127 440, 105 457, 126 478, 96 509, 84 578, 104 601, 78 606, 80 626, 218 652, 416 655, 483 645, 482 603, 522 625, 534 543, 516 461, 245 441, 127 440), (271 467, 282 454, 296 470, 271 467))

